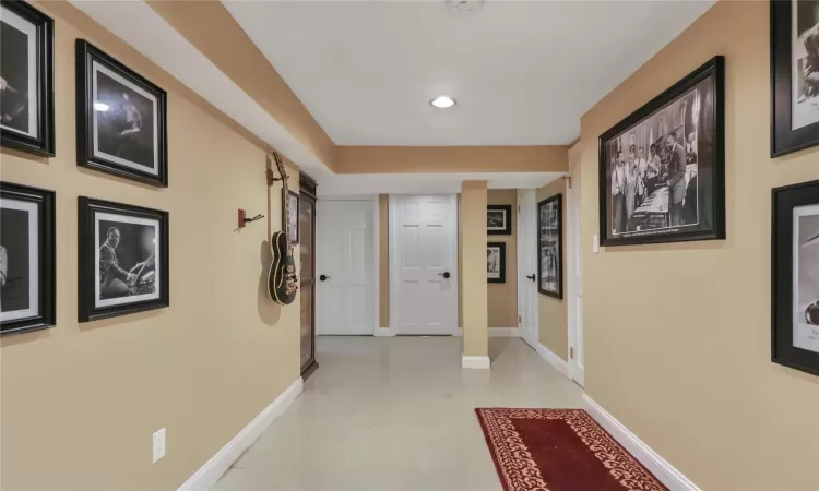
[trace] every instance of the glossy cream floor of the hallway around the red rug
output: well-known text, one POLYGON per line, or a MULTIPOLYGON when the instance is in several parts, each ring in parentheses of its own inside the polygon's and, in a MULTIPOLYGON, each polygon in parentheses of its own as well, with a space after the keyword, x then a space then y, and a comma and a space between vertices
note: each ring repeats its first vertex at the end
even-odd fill
POLYGON ((216 490, 500 490, 476 407, 580 407, 582 390, 523 340, 489 339, 491 370, 456 337, 320 337, 304 394, 216 490))

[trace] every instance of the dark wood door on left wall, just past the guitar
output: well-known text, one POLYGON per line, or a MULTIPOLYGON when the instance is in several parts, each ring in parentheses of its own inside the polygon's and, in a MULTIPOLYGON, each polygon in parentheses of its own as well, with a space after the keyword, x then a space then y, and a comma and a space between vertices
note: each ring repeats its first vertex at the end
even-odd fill
POLYGON ((299 185, 299 246, 301 251, 301 376, 307 379, 316 361, 316 182, 301 175, 299 185))

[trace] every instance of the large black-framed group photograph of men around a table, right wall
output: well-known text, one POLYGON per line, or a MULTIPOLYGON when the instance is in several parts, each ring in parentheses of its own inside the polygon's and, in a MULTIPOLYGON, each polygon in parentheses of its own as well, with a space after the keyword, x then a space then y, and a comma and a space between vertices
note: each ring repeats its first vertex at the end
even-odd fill
MULTIPOLYGON (((652 123, 655 121, 652 121, 652 123)), ((646 123, 649 127, 650 123, 646 123)), ((648 143, 652 143, 652 136, 648 139, 648 143)), ((631 143, 628 145, 630 152, 639 152, 639 148, 634 148, 637 145, 631 143)), ((668 151, 660 145, 646 145, 642 144, 643 147, 655 147, 664 154, 675 152, 675 149, 668 151)), ((648 149, 648 148, 645 148, 648 149)), ((686 242, 693 240, 724 240, 725 239, 725 59, 722 56, 716 56, 704 64, 699 67, 697 70, 688 74, 686 77, 674 84, 672 87, 654 97, 651 101, 636 110, 622 121, 618 122, 612 129, 603 133, 598 139, 598 200, 600 200, 600 243, 601 246, 613 247, 613 246, 637 246, 637 244, 650 244, 650 243, 668 243, 668 242, 686 242), (711 84, 702 86, 701 84, 711 81, 711 84), (711 98, 712 104, 710 108, 707 106, 711 98), (688 98, 688 100, 686 100, 688 98), (702 104, 700 104, 702 103, 702 104), (673 213, 672 205, 668 201, 672 200, 669 196, 670 190, 668 189, 668 182, 662 180, 664 172, 669 168, 668 163, 661 161, 660 156, 651 155, 648 159, 653 167, 658 167, 656 180, 652 183, 652 190, 646 190, 648 197, 640 206, 636 206, 632 215, 628 215, 627 201, 630 199, 628 195, 622 197, 622 204, 620 206, 619 218, 622 220, 617 227, 620 231, 616 232, 613 227, 617 218, 613 215, 614 207, 609 209, 608 202, 612 196, 613 190, 613 178, 608 171, 609 154, 608 148, 617 146, 620 152, 624 152, 626 145, 620 146, 620 143, 625 140, 626 135, 629 139, 636 135, 638 131, 645 133, 645 129, 640 129, 640 125, 649 121, 650 118, 657 117, 656 122, 666 129, 666 132, 657 132, 657 139, 654 142, 658 142, 663 139, 669 139, 673 134, 682 133, 690 135, 685 130, 686 122, 679 124, 680 128, 675 128, 672 122, 672 127, 668 127, 658 113, 665 110, 672 110, 673 106, 678 104, 675 109, 677 116, 681 115, 685 120, 689 117, 691 120, 696 119, 692 125, 697 129, 696 145, 697 149, 687 152, 685 149, 688 142, 679 144, 679 135, 677 135, 677 144, 675 149, 684 152, 686 156, 686 173, 688 173, 689 160, 693 158, 693 172, 692 176, 697 177, 696 183, 696 200, 691 208, 697 217, 697 221, 693 224, 678 224, 673 225, 673 213), (686 105, 697 105, 697 112, 693 109, 686 112, 686 105), (680 109, 681 108, 681 109, 680 109), (707 115, 711 115, 708 117, 707 115), (703 135, 699 136, 700 129, 703 135), (711 131, 709 131, 709 129, 711 131), (614 145, 614 146, 613 146, 614 145), (702 158, 705 155, 705 158, 702 158), (655 159, 656 158, 656 159, 655 159), (703 163, 709 163, 705 166, 703 163), (710 184, 709 184, 710 181, 710 184), (665 187, 665 188, 664 188, 665 187), (666 212, 662 208, 658 212, 652 209, 654 207, 653 201, 661 200, 662 192, 665 192, 666 212), (644 207, 643 207, 644 206, 644 207), (642 211, 641 211, 642 208, 642 211), (639 215, 638 215, 638 212, 639 215), (612 221, 608 221, 608 218, 612 221), (646 230, 640 230, 641 225, 638 225, 638 218, 643 223, 655 225, 657 220, 663 223, 665 226, 655 227, 646 230)), ((679 154, 678 154, 679 155, 679 154)), ((670 155, 669 155, 670 157, 670 155)), ((643 183, 648 182, 645 180, 643 183)), ((679 183, 679 179, 677 179, 679 183)), ((686 178, 682 185, 682 192, 686 194, 689 192, 689 181, 686 178)), ((680 188, 675 185, 675 192, 679 193, 680 188)), ((614 201, 614 200, 612 200, 614 201)), ((688 197, 686 197, 688 202, 688 197)), ((675 201, 678 203, 678 201, 675 201)), ((681 202, 679 202, 681 203, 681 202)), ((684 206, 676 205, 679 208, 684 206)), ((675 206, 675 207, 676 207, 675 206)), ((677 209, 679 209, 677 208, 677 209)), ((680 212, 681 214, 682 212, 680 212)), ((679 218, 677 218, 679 219, 679 218)))

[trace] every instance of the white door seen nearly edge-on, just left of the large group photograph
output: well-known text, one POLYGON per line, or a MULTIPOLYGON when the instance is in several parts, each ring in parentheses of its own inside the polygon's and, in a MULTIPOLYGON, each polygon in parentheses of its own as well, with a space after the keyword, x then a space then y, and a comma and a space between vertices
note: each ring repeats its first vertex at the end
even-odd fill
POLYGON ((568 274, 569 282, 569 376, 585 385, 583 369, 583 264, 581 227, 580 227, 580 161, 571 164, 569 168, 568 190, 568 274))

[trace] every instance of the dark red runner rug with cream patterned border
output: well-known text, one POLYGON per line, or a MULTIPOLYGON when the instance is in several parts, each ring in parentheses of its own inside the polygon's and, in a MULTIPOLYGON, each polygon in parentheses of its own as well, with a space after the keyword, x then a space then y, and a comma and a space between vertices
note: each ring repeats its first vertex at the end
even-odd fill
POLYGON ((475 409, 505 491, 668 491, 582 409, 475 409))

